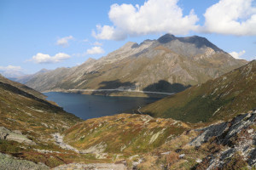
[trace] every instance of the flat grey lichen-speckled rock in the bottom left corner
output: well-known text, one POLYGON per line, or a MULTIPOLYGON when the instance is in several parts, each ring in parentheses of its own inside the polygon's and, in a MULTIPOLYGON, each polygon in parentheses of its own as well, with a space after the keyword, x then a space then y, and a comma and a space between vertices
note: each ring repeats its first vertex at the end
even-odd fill
POLYGON ((13 156, 0 153, 0 169, 5 170, 49 170, 49 167, 43 163, 34 163, 32 161, 20 160, 13 156))

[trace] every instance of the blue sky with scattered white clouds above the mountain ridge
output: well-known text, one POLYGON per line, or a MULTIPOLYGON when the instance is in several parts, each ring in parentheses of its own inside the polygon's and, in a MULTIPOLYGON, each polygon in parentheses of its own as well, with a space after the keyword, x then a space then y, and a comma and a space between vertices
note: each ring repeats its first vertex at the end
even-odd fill
POLYGON ((0 0, 0 73, 73 67, 166 33, 256 59, 256 0, 0 0))

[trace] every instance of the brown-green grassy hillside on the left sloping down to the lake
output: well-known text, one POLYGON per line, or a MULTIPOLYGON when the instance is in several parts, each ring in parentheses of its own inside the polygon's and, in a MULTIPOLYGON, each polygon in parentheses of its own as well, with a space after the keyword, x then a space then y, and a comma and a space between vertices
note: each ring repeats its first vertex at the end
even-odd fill
MULTIPOLYGON (((44 97, 32 88, 0 76, 0 152, 56 167, 67 160, 67 150, 55 144, 53 133, 61 133, 81 120, 44 97), (58 152, 64 155, 60 157, 58 152)), ((9 156, 0 154, 0 157, 0 169, 5 169, 1 164, 13 162, 9 156)), ((17 158, 15 161, 20 164, 17 158)))

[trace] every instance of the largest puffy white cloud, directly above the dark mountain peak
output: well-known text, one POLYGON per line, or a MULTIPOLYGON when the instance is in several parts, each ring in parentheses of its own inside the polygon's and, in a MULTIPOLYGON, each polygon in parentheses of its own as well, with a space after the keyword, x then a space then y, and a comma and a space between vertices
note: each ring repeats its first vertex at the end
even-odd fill
POLYGON ((113 26, 96 26, 92 35, 97 39, 123 40, 127 36, 140 36, 160 32, 187 34, 196 30, 199 20, 192 9, 183 16, 178 0, 148 0, 142 6, 113 4, 108 13, 113 26))

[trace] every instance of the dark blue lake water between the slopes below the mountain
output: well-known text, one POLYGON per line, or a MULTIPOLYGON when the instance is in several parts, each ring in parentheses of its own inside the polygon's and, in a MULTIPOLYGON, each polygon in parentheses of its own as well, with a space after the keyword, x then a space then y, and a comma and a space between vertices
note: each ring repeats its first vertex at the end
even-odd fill
POLYGON ((48 100, 55 101, 65 111, 84 120, 111 116, 117 113, 132 113, 139 106, 156 101, 154 98, 109 97, 61 92, 44 93, 48 100))

